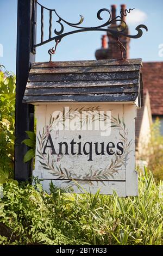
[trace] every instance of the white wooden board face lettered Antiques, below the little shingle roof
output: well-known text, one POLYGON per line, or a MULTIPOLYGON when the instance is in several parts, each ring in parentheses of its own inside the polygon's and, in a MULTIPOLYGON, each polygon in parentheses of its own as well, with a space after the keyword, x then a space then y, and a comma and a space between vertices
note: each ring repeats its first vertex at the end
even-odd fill
POLYGON ((128 103, 36 106, 34 176, 47 192, 52 181, 75 193, 100 188, 102 194, 137 196, 135 117, 136 105, 128 103))

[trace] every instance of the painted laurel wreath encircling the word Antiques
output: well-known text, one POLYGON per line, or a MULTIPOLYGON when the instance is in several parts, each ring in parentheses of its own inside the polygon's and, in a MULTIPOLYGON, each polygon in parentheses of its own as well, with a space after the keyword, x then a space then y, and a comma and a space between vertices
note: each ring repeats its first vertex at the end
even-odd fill
MULTIPOLYGON (((73 112, 78 111, 79 113, 82 113, 82 111, 89 111, 89 112, 94 112, 99 111, 99 107, 96 108, 80 108, 80 109, 74 109, 73 112)), ((72 109, 70 108, 69 113, 63 113, 62 118, 66 118, 66 115, 72 120, 74 118, 74 114, 72 114, 72 109)), ((99 115, 98 115, 99 117, 99 115)), ((99 118, 102 120, 106 120, 106 115, 102 114, 99 118)), ((95 117, 96 118, 96 117, 95 117)), ((95 119, 94 119, 95 120, 95 119)), ((46 144, 47 137, 49 133, 53 130, 53 125, 57 124, 59 122, 59 116, 56 118, 50 118, 49 120, 49 125, 46 127, 43 127, 42 133, 39 132, 39 136, 37 136, 37 141, 39 142, 39 147, 37 147, 37 153, 39 157, 39 162, 41 164, 41 167, 43 169, 46 169, 51 173, 53 176, 55 176, 56 179, 59 180, 65 180, 64 182, 67 184, 73 183, 74 185, 74 180, 78 180, 80 184, 85 184, 89 183, 90 185, 93 185, 93 180, 94 181, 99 181, 103 182, 103 180, 109 180, 110 178, 114 179, 114 174, 118 173, 118 170, 120 167, 125 166, 126 161, 128 160, 128 156, 131 152, 130 147, 132 142, 128 142, 128 131, 126 130, 126 125, 124 123, 124 119, 122 120, 119 117, 119 114, 117 118, 111 116, 111 128, 118 130, 119 135, 121 137, 121 141, 123 142, 124 145, 124 154, 122 155, 116 155, 114 154, 111 160, 111 163, 106 165, 105 168, 101 170, 92 170, 92 166, 89 169, 89 172, 82 177, 82 175, 73 175, 71 176, 71 172, 67 170, 66 168, 61 167, 61 164, 58 163, 58 161, 52 159, 50 157, 50 153, 48 151, 47 155, 43 155, 43 147, 46 144)), ((60 159, 62 156, 58 156, 60 159)), ((105 184, 104 184, 105 185, 105 184)))

